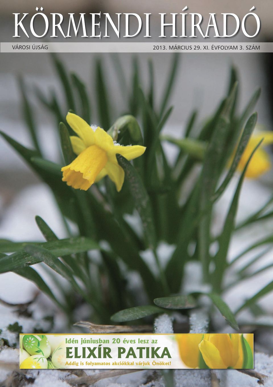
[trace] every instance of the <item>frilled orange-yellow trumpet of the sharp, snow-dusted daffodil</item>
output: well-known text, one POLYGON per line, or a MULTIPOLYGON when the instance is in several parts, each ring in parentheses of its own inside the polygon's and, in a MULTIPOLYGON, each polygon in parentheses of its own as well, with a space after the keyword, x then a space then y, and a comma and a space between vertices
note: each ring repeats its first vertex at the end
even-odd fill
POLYGON ((106 152, 97 145, 92 145, 81 152, 71 164, 61 169, 62 180, 75 189, 80 188, 86 191, 95 182, 106 164, 106 152))

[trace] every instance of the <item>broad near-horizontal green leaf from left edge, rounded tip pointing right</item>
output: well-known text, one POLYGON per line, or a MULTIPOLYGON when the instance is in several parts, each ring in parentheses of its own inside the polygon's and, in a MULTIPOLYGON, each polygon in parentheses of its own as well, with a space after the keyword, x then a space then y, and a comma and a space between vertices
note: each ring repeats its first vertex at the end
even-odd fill
MULTIPOLYGON (((27 245, 33 245, 33 243, 24 242, 24 248, 27 245)), ((46 248, 56 257, 63 257, 65 255, 81 253, 88 250, 97 250, 100 248, 92 239, 85 237, 61 239, 58 241, 37 243, 36 245, 46 248)), ((16 251, 17 246, 18 243, 16 242, 10 242, 8 244, 7 242, 0 243, 0 252, 16 251)), ((22 247, 21 244, 20 248, 22 247)), ((17 251, 11 255, 0 258, 0 273, 14 271, 21 267, 34 265, 39 262, 41 262, 41 260, 31 257, 25 251, 17 251)))

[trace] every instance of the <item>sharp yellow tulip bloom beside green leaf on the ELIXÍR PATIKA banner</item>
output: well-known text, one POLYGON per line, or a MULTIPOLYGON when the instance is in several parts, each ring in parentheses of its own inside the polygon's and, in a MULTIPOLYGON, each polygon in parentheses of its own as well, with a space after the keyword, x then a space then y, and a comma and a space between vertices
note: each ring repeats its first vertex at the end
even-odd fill
POLYGON ((239 361, 239 345, 238 334, 204 334, 199 349, 209 368, 234 368, 239 361))

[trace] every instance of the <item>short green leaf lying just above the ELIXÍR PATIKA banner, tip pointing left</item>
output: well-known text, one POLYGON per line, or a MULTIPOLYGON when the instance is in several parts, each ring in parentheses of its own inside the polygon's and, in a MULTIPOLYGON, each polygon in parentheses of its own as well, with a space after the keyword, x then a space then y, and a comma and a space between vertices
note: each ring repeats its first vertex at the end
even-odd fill
POLYGON ((156 313, 164 313, 166 310, 156 307, 155 305, 144 305, 142 307, 128 308, 120 310, 111 316, 113 322, 125 322, 142 319, 156 313))

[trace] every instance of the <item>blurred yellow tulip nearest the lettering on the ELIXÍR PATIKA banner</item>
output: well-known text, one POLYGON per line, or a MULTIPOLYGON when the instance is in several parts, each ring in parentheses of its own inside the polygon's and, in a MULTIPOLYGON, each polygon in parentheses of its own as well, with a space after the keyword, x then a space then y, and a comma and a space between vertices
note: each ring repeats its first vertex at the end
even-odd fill
POLYGON ((186 333, 177 337, 180 357, 187 367, 199 366, 200 351, 198 344, 202 341, 202 333, 186 333))

